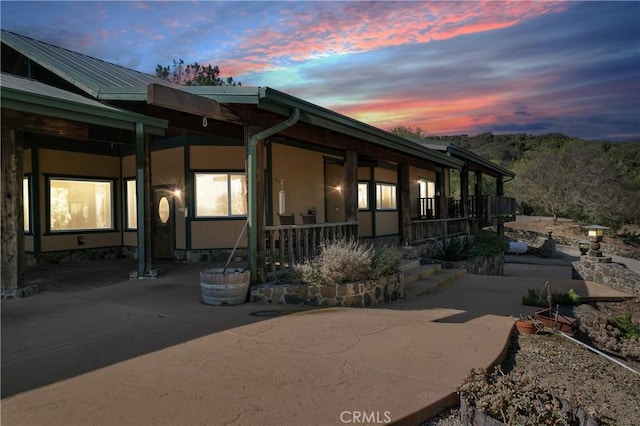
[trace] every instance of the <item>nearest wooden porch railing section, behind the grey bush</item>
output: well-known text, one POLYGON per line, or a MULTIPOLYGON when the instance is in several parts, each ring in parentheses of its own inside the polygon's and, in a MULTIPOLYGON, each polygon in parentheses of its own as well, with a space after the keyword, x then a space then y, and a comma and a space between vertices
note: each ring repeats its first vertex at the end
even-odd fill
POLYGON ((265 226, 259 256, 261 281, 313 259, 323 242, 358 238, 358 222, 265 226))

